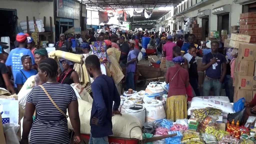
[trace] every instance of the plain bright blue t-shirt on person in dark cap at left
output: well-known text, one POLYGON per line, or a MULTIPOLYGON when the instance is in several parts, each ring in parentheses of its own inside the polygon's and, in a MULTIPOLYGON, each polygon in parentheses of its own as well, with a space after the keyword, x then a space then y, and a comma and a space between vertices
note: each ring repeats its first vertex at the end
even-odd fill
MULTIPOLYGON (((21 71, 24 73, 24 75, 29 78, 31 76, 34 76, 37 74, 37 71, 35 69, 30 69, 29 71, 25 71, 24 69, 21 69, 21 71)), ((26 82, 26 78, 25 76, 22 74, 21 71, 18 71, 16 73, 16 77, 15 77, 15 84, 22 84, 24 85, 24 83, 26 82)))

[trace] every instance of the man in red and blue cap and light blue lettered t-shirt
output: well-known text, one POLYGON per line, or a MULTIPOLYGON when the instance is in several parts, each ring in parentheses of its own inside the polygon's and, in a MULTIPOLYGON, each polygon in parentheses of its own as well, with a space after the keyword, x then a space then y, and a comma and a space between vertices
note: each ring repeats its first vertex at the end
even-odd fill
MULTIPOLYGON (((15 83, 15 77, 18 71, 23 69, 23 65, 21 64, 21 57, 24 55, 29 55, 32 60, 32 65, 35 64, 35 58, 31 51, 27 49, 27 37, 28 34, 18 33, 16 36, 16 41, 19 43, 19 47, 10 51, 9 56, 5 62, 5 65, 12 69, 13 79, 15 83)), ((14 85, 17 88, 16 85, 14 85)))

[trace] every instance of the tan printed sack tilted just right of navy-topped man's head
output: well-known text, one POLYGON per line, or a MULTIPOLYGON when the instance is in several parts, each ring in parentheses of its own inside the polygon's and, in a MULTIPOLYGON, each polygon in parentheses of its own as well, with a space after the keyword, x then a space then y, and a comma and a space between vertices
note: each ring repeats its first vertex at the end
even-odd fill
POLYGON ((107 75, 111 75, 115 81, 115 84, 118 84, 124 78, 124 74, 118 61, 113 55, 109 55, 109 60, 110 62, 105 63, 106 73, 107 75))

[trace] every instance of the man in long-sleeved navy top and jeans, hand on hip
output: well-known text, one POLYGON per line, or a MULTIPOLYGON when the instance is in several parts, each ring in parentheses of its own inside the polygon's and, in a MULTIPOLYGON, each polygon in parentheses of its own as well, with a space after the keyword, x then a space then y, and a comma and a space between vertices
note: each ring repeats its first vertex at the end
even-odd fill
POLYGON ((112 115, 120 114, 122 116, 118 111, 121 99, 114 80, 101 73, 100 60, 96 55, 88 56, 85 64, 90 77, 94 78, 91 84, 93 102, 89 144, 108 144, 108 136, 113 135, 112 115))

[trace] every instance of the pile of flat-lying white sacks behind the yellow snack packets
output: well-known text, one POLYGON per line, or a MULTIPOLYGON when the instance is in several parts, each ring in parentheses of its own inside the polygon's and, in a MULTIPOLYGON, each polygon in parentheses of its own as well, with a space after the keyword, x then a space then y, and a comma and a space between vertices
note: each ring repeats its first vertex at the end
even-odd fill
POLYGON ((229 103, 228 97, 223 96, 208 96, 208 97, 194 97, 191 102, 188 103, 188 115, 191 115, 192 109, 200 109, 206 107, 212 107, 222 110, 222 113, 229 114, 234 113, 233 104, 229 103))

